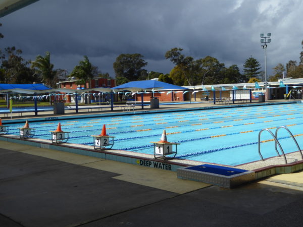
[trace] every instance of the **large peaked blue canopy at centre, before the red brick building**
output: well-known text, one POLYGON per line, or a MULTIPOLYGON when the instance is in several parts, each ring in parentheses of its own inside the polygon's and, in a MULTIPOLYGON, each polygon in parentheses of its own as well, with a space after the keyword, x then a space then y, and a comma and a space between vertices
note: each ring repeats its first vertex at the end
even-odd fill
POLYGON ((157 89, 157 90, 187 90, 188 88, 180 87, 173 84, 168 84, 158 80, 139 80, 131 81, 119 86, 113 87, 113 89, 126 89, 127 88, 140 88, 144 89, 157 89))

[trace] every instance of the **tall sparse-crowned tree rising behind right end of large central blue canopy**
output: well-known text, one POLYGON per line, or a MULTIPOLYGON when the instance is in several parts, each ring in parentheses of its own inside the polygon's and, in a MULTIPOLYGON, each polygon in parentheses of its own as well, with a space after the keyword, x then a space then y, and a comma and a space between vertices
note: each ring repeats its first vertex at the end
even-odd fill
POLYGON ((181 54, 182 48, 172 48, 165 53, 165 58, 173 62, 182 71, 188 84, 194 85, 194 77, 196 75, 196 65, 191 56, 181 54))

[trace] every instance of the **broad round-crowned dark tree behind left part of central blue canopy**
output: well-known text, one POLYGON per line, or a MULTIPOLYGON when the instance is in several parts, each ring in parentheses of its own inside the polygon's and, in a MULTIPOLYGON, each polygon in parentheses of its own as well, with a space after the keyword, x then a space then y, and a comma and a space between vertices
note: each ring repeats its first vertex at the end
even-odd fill
POLYGON ((143 55, 139 53, 122 53, 113 64, 117 84, 123 81, 135 81, 140 79, 142 68, 147 65, 143 55))

